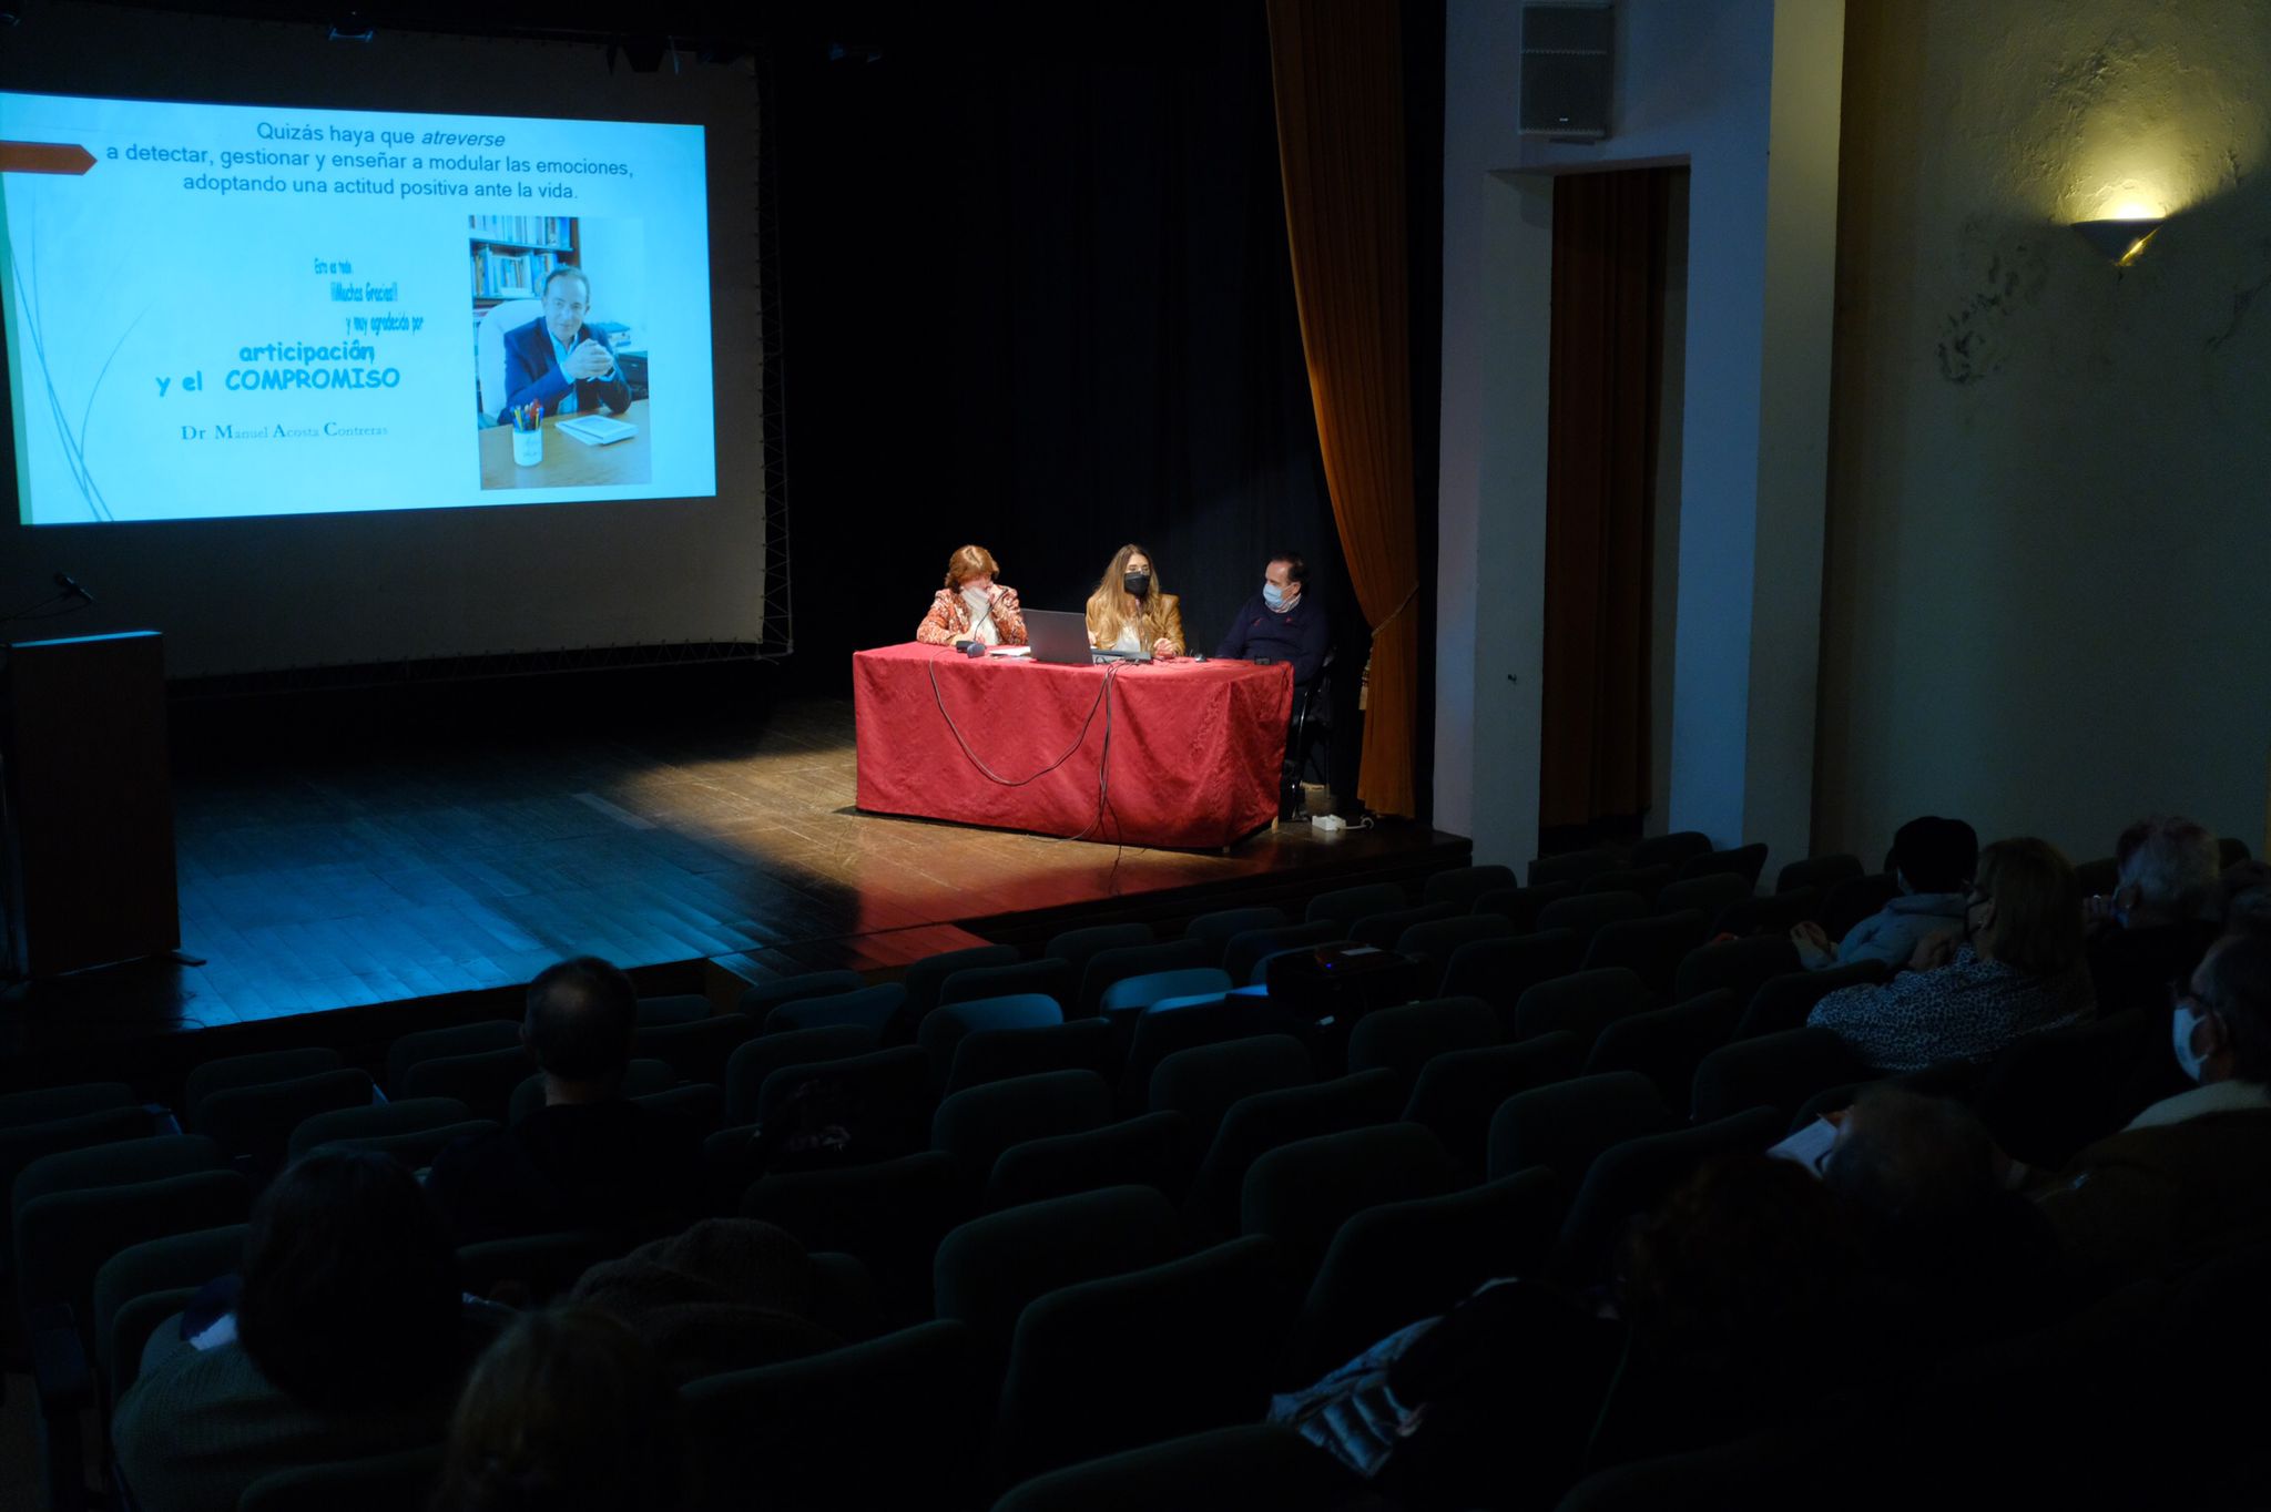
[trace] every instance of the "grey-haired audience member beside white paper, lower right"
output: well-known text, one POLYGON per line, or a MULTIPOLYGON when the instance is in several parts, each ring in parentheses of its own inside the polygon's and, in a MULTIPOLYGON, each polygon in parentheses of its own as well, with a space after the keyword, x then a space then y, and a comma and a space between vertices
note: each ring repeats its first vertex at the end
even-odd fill
POLYGON ((2058 1317, 2058 1235, 2010 1190, 1980 1117, 1908 1087, 1864 1090, 1837 1124, 1821 1181, 1860 1224, 1871 1267, 1896 1287, 1914 1358, 2058 1317))

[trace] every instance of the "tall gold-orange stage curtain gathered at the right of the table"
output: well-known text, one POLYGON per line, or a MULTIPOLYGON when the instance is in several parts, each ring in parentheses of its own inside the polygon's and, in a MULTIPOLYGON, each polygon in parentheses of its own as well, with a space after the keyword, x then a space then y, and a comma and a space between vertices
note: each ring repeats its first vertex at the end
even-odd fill
POLYGON ((1285 238, 1333 522, 1372 627, 1356 797, 1410 815, 1419 681, 1403 266, 1403 34, 1394 0, 1267 0, 1285 238))

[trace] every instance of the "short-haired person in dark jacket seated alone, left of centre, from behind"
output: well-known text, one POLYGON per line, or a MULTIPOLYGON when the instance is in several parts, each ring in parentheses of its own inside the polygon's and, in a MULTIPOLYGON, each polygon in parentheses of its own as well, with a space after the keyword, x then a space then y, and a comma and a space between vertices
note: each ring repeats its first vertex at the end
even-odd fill
POLYGON ((529 983, 520 1040, 545 1076, 545 1106, 511 1128, 434 1158, 427 1190, 459 1244, 527 1233, 672 1233, 699 1208, 702 1133, 622 1097, 638 994, 597 956, 529 983))

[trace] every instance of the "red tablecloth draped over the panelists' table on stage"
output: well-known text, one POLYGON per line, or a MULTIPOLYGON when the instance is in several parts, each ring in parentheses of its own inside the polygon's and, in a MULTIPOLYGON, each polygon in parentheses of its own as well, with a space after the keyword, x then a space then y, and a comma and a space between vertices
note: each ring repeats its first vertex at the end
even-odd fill
POLYGON ((1292 667, 893 645, 852 658, 852 706, 870 813, 1201 849, 1276 817, 1292 667))

